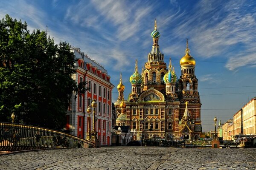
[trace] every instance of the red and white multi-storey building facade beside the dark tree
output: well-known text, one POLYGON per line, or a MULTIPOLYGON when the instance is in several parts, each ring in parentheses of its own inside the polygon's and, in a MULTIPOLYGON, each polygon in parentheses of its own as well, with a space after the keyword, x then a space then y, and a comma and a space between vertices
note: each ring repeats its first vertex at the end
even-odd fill
POLYGON ((77 84, 87 82, 88 90, 85 94, 73 93, 70 97, 70 106, 67 111, 66 129, 70 134, 86 139, 88 132, 88 121, 90 121, 90 130, 93 128, 93 112, 87 113, 88 106, 96 99, 96 131, 101 145, 111 145, 111 127, 112 127, 112 89, 108 71, 80 51, 79 48, 71 48, 76 56, 76 63, 73 79, 77 84))

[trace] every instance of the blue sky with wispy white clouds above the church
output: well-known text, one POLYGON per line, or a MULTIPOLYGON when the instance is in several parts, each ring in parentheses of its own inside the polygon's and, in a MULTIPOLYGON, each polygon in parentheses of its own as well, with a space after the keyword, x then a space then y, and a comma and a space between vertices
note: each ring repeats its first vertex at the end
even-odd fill
POLYGON ((26 21, 55 43, 69 42, 111 76, 113 102, 119 74, 125 98, 135 60, 147 62, 154 20, 160 51, 180 77, 186 39, 196 60, 203 132, 225 123, 256 96, 256 1, 254 0, 1 0, 0 18, 26 21))

